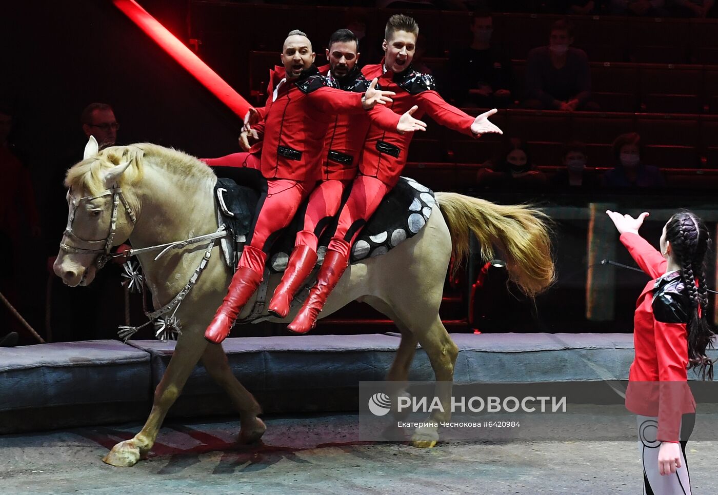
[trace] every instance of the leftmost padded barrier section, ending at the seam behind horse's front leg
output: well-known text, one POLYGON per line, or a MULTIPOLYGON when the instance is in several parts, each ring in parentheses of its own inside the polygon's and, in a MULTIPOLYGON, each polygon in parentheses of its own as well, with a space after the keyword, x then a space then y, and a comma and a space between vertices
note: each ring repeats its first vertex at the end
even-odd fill
POLYGON ((0 348, 0 433, 146 415, 149 358, 119 341, 0 348))

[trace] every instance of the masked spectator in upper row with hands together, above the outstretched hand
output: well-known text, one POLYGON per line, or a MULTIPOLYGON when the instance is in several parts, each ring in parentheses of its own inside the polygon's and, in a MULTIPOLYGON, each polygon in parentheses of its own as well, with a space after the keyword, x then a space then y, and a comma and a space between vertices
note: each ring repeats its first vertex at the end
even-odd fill
POLYGON ((526 62, 526 108, 563 111, 597 111, 591 98, 588 57, 574 48, 573 27, 559 20, 551 26, 549 46, 528 52, 526 62))

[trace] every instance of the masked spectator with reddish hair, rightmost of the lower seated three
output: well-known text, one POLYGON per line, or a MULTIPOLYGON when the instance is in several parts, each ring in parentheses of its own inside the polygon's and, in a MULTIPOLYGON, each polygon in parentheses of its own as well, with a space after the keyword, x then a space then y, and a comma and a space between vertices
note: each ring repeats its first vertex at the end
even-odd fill
POLYGON ((641 147, 638 132, 621 134, 612 144, 616 167, 604 175, 608 188, 662 188, 666 185, 658 167, 640 161, 641 147))

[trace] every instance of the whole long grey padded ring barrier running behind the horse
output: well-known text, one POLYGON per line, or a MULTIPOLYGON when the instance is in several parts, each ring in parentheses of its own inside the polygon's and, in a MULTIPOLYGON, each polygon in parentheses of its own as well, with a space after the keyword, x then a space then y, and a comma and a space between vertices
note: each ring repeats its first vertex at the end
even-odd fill
MULTIPOLYGON (((628 379, 633 335, 622 333, 452 334, 455 381, 553 382, 628 379)), ((379 381, 398 334, 228 338, 233 374, 266 413, 356 410, 358 381, 379 381)), ((0 348, 0 433, 141 421, 174 342, 88 341, 0 348)), ((712 358, 717 351, 709 351, 712 358)), ((416 351, 409 379, 433 379, 416 351)), ((691 379, 696 376, 691 372, 691 379)), ((172 416, 236 414, 197 366, 172 416)))

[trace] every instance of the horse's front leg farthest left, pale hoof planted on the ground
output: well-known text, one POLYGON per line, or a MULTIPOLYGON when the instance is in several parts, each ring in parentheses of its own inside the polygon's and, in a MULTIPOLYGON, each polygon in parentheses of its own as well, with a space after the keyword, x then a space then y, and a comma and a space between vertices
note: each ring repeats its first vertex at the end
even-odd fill
POLYGON ((167 371, 154 391, 154 402, 142 430, 131 438, 115 445, 102 459, 112 466, 134 466, 154 445, 162 421, 177 397, 180 397, 187 378, 207 347, 204 328, 186 330, 177 341, 167 371))

